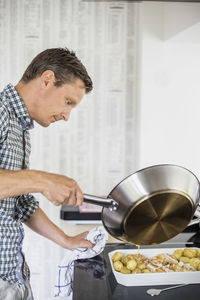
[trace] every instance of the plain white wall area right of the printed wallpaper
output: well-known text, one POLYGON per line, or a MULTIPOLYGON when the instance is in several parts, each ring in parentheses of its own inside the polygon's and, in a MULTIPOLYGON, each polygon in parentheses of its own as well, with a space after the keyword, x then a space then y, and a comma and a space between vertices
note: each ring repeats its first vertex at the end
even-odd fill
POLYGON ((173 163, 200 176, 200 4, 171 5, 141 9, 138 166, 173 163))

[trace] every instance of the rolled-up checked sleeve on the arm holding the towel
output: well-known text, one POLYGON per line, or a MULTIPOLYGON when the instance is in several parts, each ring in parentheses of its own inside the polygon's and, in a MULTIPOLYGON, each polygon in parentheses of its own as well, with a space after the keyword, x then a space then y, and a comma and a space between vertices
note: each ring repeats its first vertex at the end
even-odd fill
POLYGON ((31 194, 22 195, 18 199, 18 210, 20 211, 20 221, 22 223, 28 221, 28 219, 34 214, 39 207, 39 202, 31 194))

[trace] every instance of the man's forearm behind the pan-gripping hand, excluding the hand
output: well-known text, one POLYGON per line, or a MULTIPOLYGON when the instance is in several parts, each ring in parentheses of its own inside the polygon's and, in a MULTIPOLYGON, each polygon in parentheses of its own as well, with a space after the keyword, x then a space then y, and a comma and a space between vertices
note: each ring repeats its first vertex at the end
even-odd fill
POLYGON ((42 172, 0 169, 0 199, 42 191, 42 172))

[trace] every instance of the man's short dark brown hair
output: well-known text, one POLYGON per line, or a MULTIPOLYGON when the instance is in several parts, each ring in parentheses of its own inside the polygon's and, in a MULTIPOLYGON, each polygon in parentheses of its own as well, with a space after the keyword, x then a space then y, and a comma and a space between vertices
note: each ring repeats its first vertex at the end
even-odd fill
POLYGON ((92 90, 92 80, 86 68, 76 57, 75 52, 67 48, 51 48, 39 53, 27 67, 21 80, 25 83, 42 75, 46 70, 55 74, 56 86, 64 83, 72 83, 76 78, 85 84, 86 93, 92 90))

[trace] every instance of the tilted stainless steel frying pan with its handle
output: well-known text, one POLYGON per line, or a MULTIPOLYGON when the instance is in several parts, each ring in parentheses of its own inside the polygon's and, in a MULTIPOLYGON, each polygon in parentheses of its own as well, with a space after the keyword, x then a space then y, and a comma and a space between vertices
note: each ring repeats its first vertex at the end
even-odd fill
POLYGON ((84 201, 103 206, 102 222, 108 233, 136 245, 159 244, 182 232, 200 199, 198 178, 186 168, 155 165, 121 181, 101 198, 85 194, 84 201))

